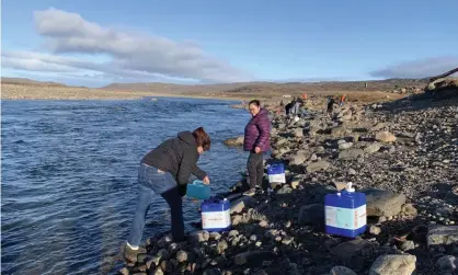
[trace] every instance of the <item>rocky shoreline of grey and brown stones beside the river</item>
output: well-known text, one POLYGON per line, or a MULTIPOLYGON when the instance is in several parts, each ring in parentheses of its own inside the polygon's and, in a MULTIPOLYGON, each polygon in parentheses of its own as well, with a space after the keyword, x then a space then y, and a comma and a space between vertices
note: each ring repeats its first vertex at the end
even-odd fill
POLYGON ((458 274, 457 103, 415 95, 350 104, 333 117, 310 108, 289 126, 271 105, 266 163, 283 161, 287 183, 265 181, 233 202, 229 232, 195 231, 183 243, 148 239, 148 253, 119 273, 458 274), (347 182, 367 196, 367 231, 355 240, 324 233, 324 195, 347 182))

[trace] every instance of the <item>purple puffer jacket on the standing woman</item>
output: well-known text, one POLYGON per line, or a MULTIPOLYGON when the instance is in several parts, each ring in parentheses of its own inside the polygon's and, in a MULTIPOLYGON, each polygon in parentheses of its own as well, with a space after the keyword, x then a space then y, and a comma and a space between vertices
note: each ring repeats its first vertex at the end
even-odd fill
POLYGON ((245 151, 254 151, 255 147, 260 147, 265 152, 271 149, 271 119, 268 112, 261 108, 245 126, 243 149, 245 151))

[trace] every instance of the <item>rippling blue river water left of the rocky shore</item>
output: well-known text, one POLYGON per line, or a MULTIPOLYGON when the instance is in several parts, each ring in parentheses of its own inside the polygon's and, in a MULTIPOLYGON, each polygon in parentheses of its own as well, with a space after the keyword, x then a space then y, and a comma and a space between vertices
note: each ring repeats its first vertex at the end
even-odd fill
MULTIPOLYGON (((249 115, 230 102, 2 101, 2 274, 100 274, 127 238, 141 157, 178 131, 203 125, 211 150, 199 160, 214 192, 238 179, 245 154, 221 141, 249 115)), ((197 205, 184 203, 186 227, 197 205)), ((165 203, 151 208, 144 238, 169 229, 165 203)))

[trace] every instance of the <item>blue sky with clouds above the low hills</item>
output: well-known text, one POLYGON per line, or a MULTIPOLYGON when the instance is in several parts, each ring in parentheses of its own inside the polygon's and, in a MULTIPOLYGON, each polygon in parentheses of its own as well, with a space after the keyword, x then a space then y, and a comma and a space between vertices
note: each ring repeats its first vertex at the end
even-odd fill
POLYGON ((458 1, 1 1, 1 75, 67 84, 424 78, 458 1))

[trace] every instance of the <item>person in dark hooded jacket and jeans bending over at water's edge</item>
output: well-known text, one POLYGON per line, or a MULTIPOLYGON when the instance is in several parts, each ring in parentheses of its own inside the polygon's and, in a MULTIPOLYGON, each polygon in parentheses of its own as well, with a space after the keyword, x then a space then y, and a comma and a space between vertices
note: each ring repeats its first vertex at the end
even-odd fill
POLYGON ((186 194, 191 174, 205 184, 210 183, 207 173, 196 164, 199 156, 209 149, 210 137, 199 127, 193 133, 179 133, 142 158, 138 170, 137 208, 124 250, 125 259, 136 262, 138 253, 146 253, 139 245, 145 218, 156 194, 161 195, 170 206, 173 241, 184 240, 182 196, 186 194))

